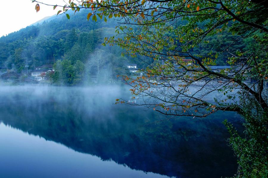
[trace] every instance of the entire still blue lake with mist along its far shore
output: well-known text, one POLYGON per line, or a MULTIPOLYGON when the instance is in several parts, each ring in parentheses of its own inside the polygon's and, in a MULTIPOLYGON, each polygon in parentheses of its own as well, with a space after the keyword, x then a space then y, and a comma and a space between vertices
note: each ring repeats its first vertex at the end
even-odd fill
POLYGON ((0 87, 0 177, 225 177, 236 158, 218 112, 202 120, 115 105, 125 87, 0 87), (144 125, 148 124, 148 125, 144 125))

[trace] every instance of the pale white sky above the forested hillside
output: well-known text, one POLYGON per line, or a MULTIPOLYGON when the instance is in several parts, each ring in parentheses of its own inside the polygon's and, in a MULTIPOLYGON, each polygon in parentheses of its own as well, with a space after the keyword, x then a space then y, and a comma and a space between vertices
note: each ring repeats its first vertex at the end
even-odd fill
MULTIPOLYGON (((63 5, 63 0, 40 0, 46 4, 63 5)), ((40 11, 36 13, 35 4, 31 0, 0 0, 0 37, 13 31, 25 28, 44 17, 57 14, 62 7, 53 10, 53 6, 40 5, 40 11)))

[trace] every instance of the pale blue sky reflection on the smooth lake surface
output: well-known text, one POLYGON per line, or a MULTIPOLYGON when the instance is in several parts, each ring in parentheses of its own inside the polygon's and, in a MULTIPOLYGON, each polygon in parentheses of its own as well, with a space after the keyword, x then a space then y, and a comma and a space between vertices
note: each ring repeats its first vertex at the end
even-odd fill
POLYGON ((68 149, 38 136, 0 124, 1 178, 36 177, 146 177, 165 178, 154 173, 132 170, 114 161, 68 149), (7 134, 8 133, 8 134, 7 134))

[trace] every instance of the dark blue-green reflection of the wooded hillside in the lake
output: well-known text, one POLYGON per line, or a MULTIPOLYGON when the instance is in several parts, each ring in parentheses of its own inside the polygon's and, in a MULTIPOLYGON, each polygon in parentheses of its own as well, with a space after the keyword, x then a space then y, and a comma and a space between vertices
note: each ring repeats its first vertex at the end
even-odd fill
POLYGON ((0 103, 4 124, 103 160, 177 177, 221 177, 236 171, 233 151, 224 140, 227 133, 222 119, 138 127, 157 120, 155 112, 122 105, 108 107, 97 103, 98 99, 91 100, 95 102, 91 107, 85 104, 88 98, 76 94, 64 100, 51 96, 40 101, 23 94, 9 99, 5 98, 12 108, 0 103))

